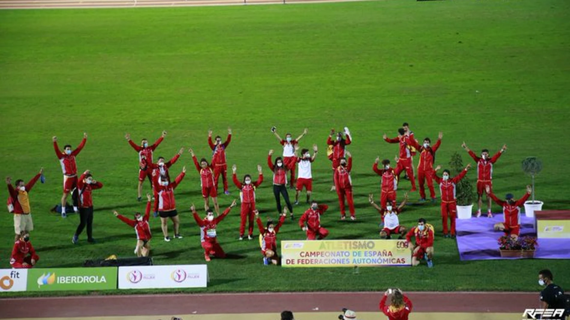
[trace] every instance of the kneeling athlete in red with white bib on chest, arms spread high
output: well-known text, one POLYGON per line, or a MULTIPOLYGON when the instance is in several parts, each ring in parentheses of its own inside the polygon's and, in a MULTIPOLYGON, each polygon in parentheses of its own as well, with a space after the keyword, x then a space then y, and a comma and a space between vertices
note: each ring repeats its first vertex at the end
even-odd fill
POLYGON ((214 218, 214 213, 212 210, 206 210, 206 217, 200 219, 198 213, 196 213, 196 207, 192 205, 190 210, 192 211, 192 215, 194 216, 194 220, 200 226, 200 243, 202 244, 202 248, 204 248, 204 258, 206 261, 210 261, 210 255, 219 258, 225 258, 226 253, 223 252, 221 246, 218 243, 218 232, 216 231, 216 227, 218 223, 220 223, 226 216, 230 213, 231 208, 235 207, 235 200, 231 202, 231 205, 223 211, 221 215, 214 218))

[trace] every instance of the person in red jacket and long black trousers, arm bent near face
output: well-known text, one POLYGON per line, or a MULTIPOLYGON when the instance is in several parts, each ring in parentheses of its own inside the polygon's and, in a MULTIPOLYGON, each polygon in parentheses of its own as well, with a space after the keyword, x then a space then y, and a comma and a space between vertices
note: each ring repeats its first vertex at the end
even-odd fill
POLYGON ((83 232, 83 228, 87 226, 87 242, 95 243, 93 239, 93 198, 91 191, 103 188, 103 184, 95 181, 90 171, 83 172, 77 181, 78 198, 79 198, 79 219, 80 223, 75 230, 71 242, 78 243, 79 235, 83 232))

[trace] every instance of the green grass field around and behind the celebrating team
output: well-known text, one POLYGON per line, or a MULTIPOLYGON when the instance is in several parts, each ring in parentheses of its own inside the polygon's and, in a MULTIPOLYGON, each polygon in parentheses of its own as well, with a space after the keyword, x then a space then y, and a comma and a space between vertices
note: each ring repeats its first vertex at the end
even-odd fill
MULTIPOLYGON (((418 139, 443 143, 437 163, 446 167, 465 141, 475 151, 494 152, 508 144, 495 166, 494 190, 522 196, 530 177, 520 162, 539 156, 543 172, 536 197, 545 209, 568 209, 570 147, 570 3, 543 1, 378 1, 312 5, 193 7, 168 9, 0 11, 0 176, 31 178, 45 168, 46 184, 31 192, 39 251, 38 267, 76 267, 111 254, 133 255, 134 232, 113 217, 143 210, 136 201, 137 155, 125 142, 158 138, 157 155, 171 157, 184 146, 210 155, 207 130, 234 131, 227 149, 238 174, 263 165, 258 190, 263 216, 275 216, 267 151, 280 152, 270 133, 309 133, 302 147, 322 151, 314 164, 314 197, 331 205, 323 217, 330 239, 377 238, 377 212, 367 202, 378 194, 377 156, 393 159, 397 145, 387 132, 410 123, 418 139), (357 217, 339 220, 336 193, 325 159, 329 130, 348 126, 354 136, 357 217), (87 146, 78 156, 105 185, 94 192, 94 236, 73 245, 79 218, 62 219, 49 209, 60 199, 62 174, 51 145, 87 146)), ((468 156, 462 153, 467 163, 468 156)), ((157 264, 203 263, 199 229, 189 206, 202 207, 200 180, 189 153, 171 169, 187 165, 177 189, 181 240, 165 243, 152 219, 157 264)), ((417 160, 416 160, 417 164, 417 160)), ((471 179, 476 178, 470 172, 471 179)), ((409 188, 408 181, 400 184, 409 188)), ((149 185, 145 184, 145 190, 149 185)), ((222 206, 237 198, 220 196, 222 206)), ((6 196, 6 192, 3 193, 6 196)), ((400 192, 401 196, 402 193, 400 192)), ((411 194, 413 202, 418 193, 411 194)), ((306 206, 295 207, 300 214, 306 206)), ((494 206, 494 211, 499 211, 494 206)), ((226 252, 242 259, 209 263, 208 292, 266 290, 539 290, 536 275, 551 268, 556 282, 570 288, 567 260, 459 260, 453 240, 438 236, 435 267, 282 269, 264 267, 258 242, 238 241, 238 210, 219 227, 226 252)), ((441 230, 438 205, 408 206, 401 223, 425 217, 441 230)), ((9 268, 13 246, 11 214, 1 215, 0 257, 9 268)), ((172 226, 170 226, 172 230, 172 226)), ((171 231, 172 232, 172 231, 171 231)), ((303 239, 297 223, 279 239, 303 239)), ((171 292, 170 290, 156 290, 171 292)), ((61 293, 58 293, 61 294, 61 293)))

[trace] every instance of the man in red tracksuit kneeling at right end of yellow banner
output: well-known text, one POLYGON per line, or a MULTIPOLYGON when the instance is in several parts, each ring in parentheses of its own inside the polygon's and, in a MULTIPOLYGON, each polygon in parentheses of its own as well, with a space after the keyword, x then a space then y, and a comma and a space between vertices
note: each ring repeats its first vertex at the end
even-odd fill
POLYGON ((412 250, 412 266, 416 267, 420 264, 421 259, 425 259, 427 267, 433 267, 433 227, 426 224, 426 219, 418 219, 418 225, 411 228, 406 234, 406 241, 412 250), (412 236, 415 236, 415 242, 412 245, 412 236))

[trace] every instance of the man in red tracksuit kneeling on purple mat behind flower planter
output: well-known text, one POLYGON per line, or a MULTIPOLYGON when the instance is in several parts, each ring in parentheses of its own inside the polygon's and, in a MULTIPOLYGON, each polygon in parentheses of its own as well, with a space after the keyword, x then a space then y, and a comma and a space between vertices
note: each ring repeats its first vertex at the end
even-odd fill
POLYGON ((527 193, 524 194, 519 200, 514 200, 512 193, 507 193, 505 201, 499 200, 495 194, 492 193, 491 187, 486 186, 485 189, 487 196, 490 197, 496 204, 503 207, 504 221, 495 223, 495 231, 503 231, 505 234, 514 238, 520 234, 520 207, 528 200, 532 193, 532 187, 527 185, 527 193))

